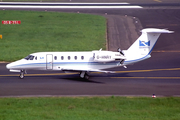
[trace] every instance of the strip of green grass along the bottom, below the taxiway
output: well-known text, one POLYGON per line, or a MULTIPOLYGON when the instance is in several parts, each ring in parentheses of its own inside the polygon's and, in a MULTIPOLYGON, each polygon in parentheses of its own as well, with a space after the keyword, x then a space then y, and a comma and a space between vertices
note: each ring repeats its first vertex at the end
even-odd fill
POLYGON ((0 98, 0 120, 179 120, 180 98, 0 98))

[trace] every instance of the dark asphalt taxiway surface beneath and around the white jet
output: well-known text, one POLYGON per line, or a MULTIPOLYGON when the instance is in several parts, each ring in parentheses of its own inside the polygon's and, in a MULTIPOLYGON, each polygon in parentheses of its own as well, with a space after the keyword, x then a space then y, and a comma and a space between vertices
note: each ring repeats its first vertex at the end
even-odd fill
MULTIPOLYGON (((117 71, 115 74, 92 73, 89 81, 80 79, 78 74, 65 75, 52 71, 29 71, 27 77, 19 79, 18 74, 6 70, 6 63, 0 64, 0 96, 180 95, 180 9, 49 9, 48 11, 78 11, 113 16, 111 17, 113 29, 108 36, 120 41, 116 45, 122 49, 126 49, 137 39, 129 34, 132 26, 134 36, 137 37, 140 34, 139 30, 147 27, 168 28, 175 33, 160 36, 150 59, 128 66, 127 69, 114 68, 113 70, 117 71), (124 19, 127 16, 132 18, 130 24, 119 22, 122 17, 124 19), (128 42, 121 46, 123 40, 128 42)), ((111 47, 109 49, 114 50, 111 47)))

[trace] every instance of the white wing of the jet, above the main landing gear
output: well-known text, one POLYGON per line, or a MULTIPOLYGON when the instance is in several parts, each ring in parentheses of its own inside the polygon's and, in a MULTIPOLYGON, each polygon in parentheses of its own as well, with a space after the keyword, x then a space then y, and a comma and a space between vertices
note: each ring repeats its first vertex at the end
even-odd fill
POLYGON ((115 73, 114 71, 104 71, 99 69, 85 69, 85 68, 61 68, 62 71, 70 71, 70 72, 103 72, 103 73, 115 73))

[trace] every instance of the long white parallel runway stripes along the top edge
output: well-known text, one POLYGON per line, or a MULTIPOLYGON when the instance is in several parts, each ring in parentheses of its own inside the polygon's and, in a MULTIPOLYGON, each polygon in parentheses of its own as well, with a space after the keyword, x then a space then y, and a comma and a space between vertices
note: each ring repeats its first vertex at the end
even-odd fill
POLYGON ((130 3, 37 3, 37 2, 3 2, 0 3, 0 8, 143 8, 138 5, 131 5, 130 3))

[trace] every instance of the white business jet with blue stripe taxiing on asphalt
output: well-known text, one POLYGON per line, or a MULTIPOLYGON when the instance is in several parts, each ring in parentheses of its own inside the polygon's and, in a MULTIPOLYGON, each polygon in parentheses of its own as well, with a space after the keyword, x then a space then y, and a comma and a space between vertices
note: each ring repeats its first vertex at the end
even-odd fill
POLYGON ((143 29, 142 35, 128 50, 118 52, 95 50, 89 52, 37 52, 6 65, 11 72, 20 72, 24 78, 27 70, 57 70, 79 72, 81 78, 89 79, 89 72, 105 72, 105 69, 133 64, 147 58, 161 33, 173 33, 166 29, 143 29))

